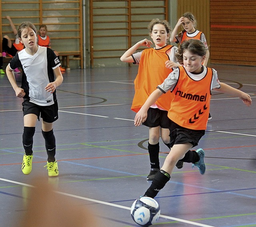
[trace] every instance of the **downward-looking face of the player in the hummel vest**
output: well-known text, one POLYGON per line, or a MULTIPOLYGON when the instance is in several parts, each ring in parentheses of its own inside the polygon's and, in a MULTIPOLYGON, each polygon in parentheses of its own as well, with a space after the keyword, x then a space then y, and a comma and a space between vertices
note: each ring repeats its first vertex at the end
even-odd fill
POLYGON ((183 64, 186 71, 190 73, 200 73, 204 59, 205 55, 201 57, 197 54, 190 53, 188 50, 183 52, 183 64))

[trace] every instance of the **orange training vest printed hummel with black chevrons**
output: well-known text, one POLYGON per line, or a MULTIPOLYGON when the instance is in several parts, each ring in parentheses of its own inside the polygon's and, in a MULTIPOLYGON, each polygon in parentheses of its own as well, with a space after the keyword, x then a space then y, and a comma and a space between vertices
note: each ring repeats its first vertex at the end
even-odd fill
POLYGON ((179 78, 172 90, 174 99, 168 117, 182 127, 205 130, 210 110, 212 69, 207 68, 204 78, 195 81, 184 67, 178 68, 179 78))

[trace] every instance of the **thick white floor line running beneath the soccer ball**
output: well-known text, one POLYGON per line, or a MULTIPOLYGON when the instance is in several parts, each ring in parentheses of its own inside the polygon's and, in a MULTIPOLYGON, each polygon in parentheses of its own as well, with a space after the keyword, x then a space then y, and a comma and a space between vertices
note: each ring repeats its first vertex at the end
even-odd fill
MULTIPOLYGON (((28 186, 28 187, 34 188, 34 186, 32 186, 30 184, 24 184, 24 183, 21 183, 21 182, 16 182, 16 181, 4 179, 4 178, 0 178, 0 180, 5 181, 5 182, 10 182, 10 183, 13 183, 13 184, 18 184, 18 185, 28 186)), ((118 208, 122 208, 122 209, 126 209, 126 210, 131 209, 130 207, 125 207, 125 206, 122 206, 122 205, 118 205, 118 204, 114 204, 114 203, 108 203, 108 202, 104 202, 104 201, 100 201, 100 200, 96 200, 96 199, 90 199, 90 198, 86 198, 86 197, 82 197, 82 196, 78 196, 78 195, 72 195, 72 194, 69 194, 69 193, 61 192, 61 191, 55 191, 55 192, 58 193, 58 194, 66 195, 66 196, 73 197, 73 198, 76 198, 76 199, 82 199, 82 200, 86 200, 86 201, 90 201, 90 202, 94 202, 94 203, 100 203, 100 204, 104 204, 104 205, 108 205, 108 206, 112 206, 112 207, 118 207, 118 208)), ((180 219, 180 218, 176 218, 176 217, 170 217, 170 216, 166 216, 166 215, 160 215, 160 217, 170 219, 170 220, 173 220, 173 221, 179 221, 179 222, 191 224, 191 225, 201 226, 201 227, 214 227, 212 225, 205 225, 205 224, 197 223, 197 222, 194 222, 194 221, 188 221, 188 220, 184 220, 184 219, 180 219)))

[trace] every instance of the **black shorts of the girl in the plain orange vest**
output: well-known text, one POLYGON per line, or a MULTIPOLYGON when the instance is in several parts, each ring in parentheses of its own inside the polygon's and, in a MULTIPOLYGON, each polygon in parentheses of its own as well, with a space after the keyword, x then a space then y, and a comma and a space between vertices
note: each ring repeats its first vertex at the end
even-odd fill
POLYGON ((162 111, 158 108, 149 108, 147 119, 142 123, 150 128, 158 127, 169 128, 168 111, 162 111))

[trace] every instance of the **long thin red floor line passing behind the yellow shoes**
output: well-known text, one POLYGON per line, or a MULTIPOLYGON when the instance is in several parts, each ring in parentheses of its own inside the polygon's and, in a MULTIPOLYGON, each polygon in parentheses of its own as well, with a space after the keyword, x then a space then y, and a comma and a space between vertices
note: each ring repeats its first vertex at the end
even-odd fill
MULTIPOLYGON (((243 148, 243 147, 254 147, 256 145, 250 146, 230 146, 230 147, 220 147, 220 148, 204 148, 204 150, 219 150, 219 149, 228 149, 228 148, 243 148)), ((168 154, 169 152, 159 152, 160 154, 168 154)), ((136 155, 148 155, 148 153, 142 154, 125 154, 125 155, 113 155, 113 156, 101 156, 101 157, 90 157, 90 158, 71 158, 71 159, 62 159, 58 160, 58 162, 62 161, 72 161, 72 160, 84 160, 84 159, 95 159, 95 158, 116 158, 116 157, 127 157, 127 156, 136 156, 136 155)), ((41 162, 33 162, 33 163, 44 163, 45 161, 41 162)), ((8 163, 8 164, 0 164, 0 166, 9 166, 9 165, 20 165, 20 163, 8 163)))

